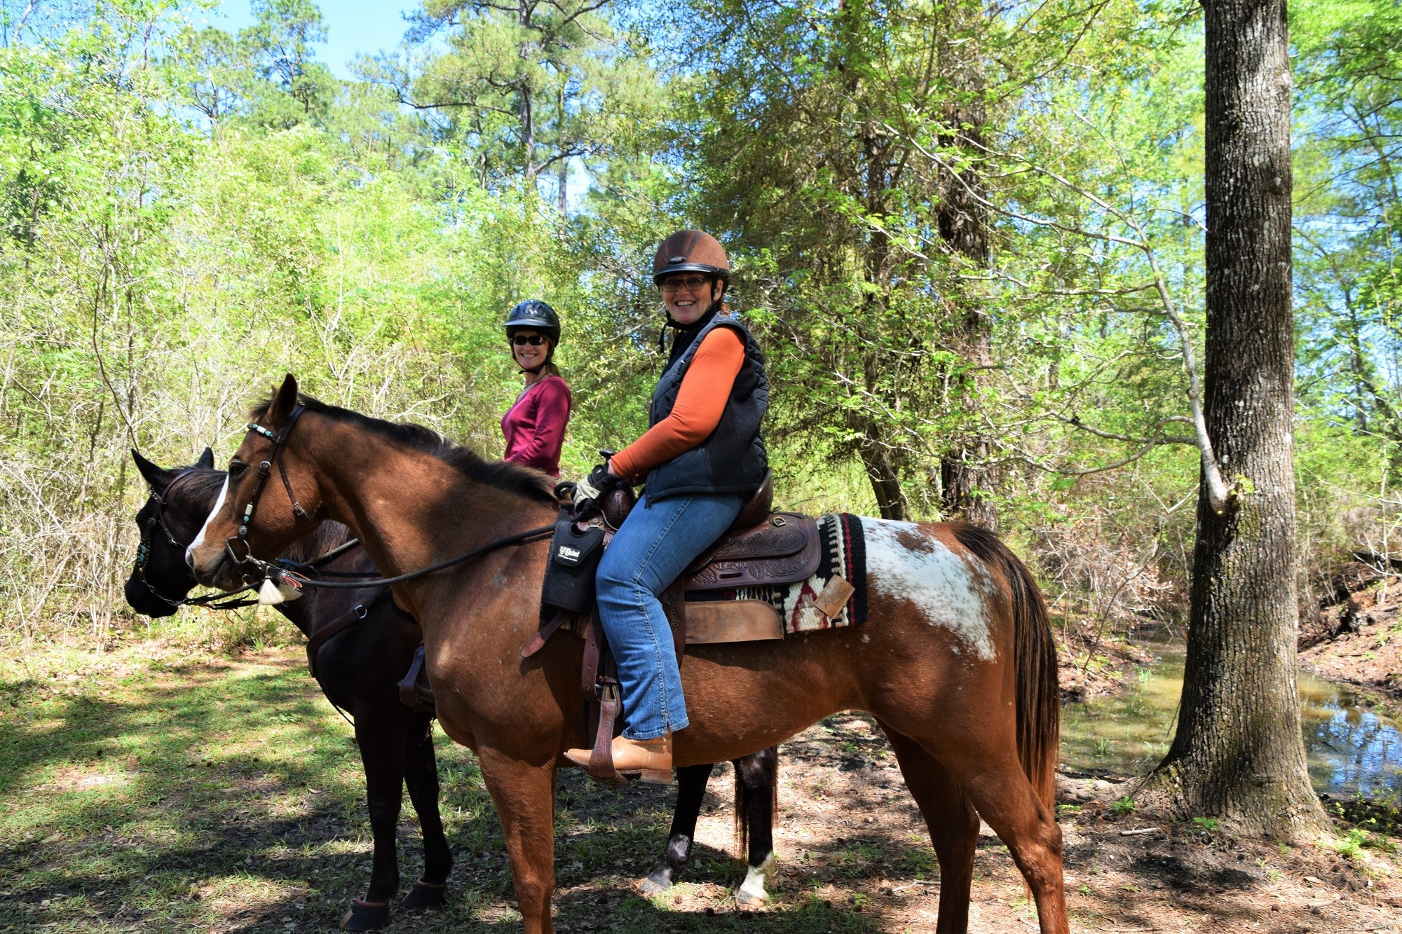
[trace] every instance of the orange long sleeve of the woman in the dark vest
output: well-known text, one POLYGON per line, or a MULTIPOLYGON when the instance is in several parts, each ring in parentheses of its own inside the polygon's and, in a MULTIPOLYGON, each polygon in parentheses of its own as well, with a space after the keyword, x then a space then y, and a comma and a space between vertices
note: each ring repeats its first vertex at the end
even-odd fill
POLYGON ((698 446, 721 424, 735 377, 744 365, 744 344, 733 328, 714 328, 701 339, 677 387, 672 412, 608 461, 613 473, 642 482, 648 471, 698 446))

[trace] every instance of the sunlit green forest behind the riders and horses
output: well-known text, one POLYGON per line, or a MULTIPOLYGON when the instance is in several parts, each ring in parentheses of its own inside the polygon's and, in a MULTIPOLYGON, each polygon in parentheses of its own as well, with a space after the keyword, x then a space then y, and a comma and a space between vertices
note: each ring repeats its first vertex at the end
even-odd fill
MULTIPOLYGON (((348 80, 310 0, 209 8, 0 3, 7 647, 144 632, 128 449, 223 461, 286 370, 499 453, 520 299, 564 317, 587 470, 645 426, 680 226, 730 250, 785 506, 995 524, 1064 641, 1185 613, 1196 3, 428 0, 348 80)), ((1308 616, 1398 551, 1402 11, 1290 15, 1308 616)))

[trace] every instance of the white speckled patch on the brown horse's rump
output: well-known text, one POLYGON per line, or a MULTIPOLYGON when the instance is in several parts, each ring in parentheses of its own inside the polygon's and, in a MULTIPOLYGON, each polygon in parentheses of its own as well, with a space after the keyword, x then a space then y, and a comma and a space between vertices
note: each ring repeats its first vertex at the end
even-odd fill
POLYGON ((993 578, 980 561, 955 554, 913 522, 862 519, 862 532, 871 586, 910 600, 927 623, 958 635, 980 659, 994 659, 987 610, 993 578), (907 544, 911 536, 920 547, 907 544))

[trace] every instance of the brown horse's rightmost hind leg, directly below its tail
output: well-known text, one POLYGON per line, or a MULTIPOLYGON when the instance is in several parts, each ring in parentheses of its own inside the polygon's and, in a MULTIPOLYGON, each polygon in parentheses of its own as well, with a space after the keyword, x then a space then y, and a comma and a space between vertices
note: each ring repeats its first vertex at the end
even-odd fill
MULTIPOLYGON (((938 749, 928 743, 927 749, 938 749)), ((1008 846, 1032 889, 1042 934, 1070 934, 1061 877, 1061 827, 1005 747, 970 743, 941 759, 990 827, 1008 846)))

